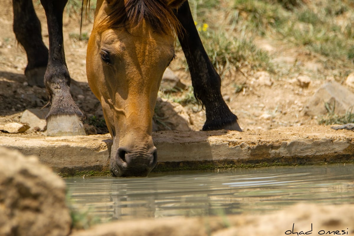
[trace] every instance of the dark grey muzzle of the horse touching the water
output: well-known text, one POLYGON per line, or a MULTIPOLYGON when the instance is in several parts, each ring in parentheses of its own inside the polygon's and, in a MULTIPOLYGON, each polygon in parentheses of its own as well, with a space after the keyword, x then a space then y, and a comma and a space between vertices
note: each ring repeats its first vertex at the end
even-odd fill
POLYGON ((157 163, 157 151, 119 147, 111 155, 110 171, 116 177, 145 177, 157 163))

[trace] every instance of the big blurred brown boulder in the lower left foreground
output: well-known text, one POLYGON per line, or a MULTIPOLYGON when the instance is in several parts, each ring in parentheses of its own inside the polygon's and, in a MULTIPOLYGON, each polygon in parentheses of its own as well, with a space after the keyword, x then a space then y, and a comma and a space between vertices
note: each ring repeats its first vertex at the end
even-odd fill
POLYGON ((65 184, 37 157, 0 147, 0 235, 66 236, 65 184))

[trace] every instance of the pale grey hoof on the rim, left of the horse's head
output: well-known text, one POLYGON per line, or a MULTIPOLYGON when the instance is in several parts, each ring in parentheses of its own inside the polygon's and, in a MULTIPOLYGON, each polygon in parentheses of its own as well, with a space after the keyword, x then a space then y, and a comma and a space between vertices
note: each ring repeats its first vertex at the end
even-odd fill
POLYGON ((84 125, 77 115, 54 115, 47 118, 47 136, 86 135, 84 125))

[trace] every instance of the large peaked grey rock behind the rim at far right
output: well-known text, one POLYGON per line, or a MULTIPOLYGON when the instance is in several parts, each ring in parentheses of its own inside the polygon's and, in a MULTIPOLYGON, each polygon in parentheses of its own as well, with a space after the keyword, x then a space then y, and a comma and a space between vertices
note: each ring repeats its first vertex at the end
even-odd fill
POLYGON ((310 116, 325 115, 327 114, 325 103, 334 107, 336 114, 344 115, 354 105, 354 93, 335 81, 328 82, 315 92, 303 112, 310 116))

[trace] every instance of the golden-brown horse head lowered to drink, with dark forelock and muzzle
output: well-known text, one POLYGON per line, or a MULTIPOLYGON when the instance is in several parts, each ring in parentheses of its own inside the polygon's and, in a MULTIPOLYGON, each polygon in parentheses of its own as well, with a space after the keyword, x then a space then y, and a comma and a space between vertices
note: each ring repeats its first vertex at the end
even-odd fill
POLYGON ((146 176, 156 165, 152 117, 162 75, 175 57, 183 0, 97 1, 87 79, 113 138, 114 176, 146 176))

